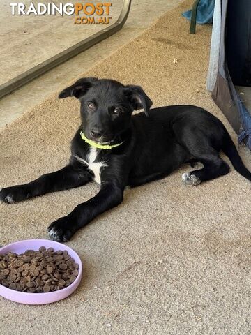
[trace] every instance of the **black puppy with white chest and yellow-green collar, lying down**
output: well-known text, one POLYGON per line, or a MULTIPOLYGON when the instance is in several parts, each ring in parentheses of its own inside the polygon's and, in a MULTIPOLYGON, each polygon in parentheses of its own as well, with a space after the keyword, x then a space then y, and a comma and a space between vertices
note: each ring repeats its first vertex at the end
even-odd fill
POLYGON ((81 102, 82 126, 72 142, 70 163, 29 184, 3 188, 0 199, 13 203, 48 192, 82 186, 91 180, 100 191, 48 228, 56 241, 68 241, 79 228, 123 200, 126 186, 166 177, 196 159, 204 168, 183 173, 185 185, 197 185, 229 172, 222 150, 234 168, 251 180, 225 126, 200 107, 175 105, 149 110, 152 102, 141 87, 114 80, 82 78, 59 98, 81 102), (144 113, 132 117, 139 108, 144 113))

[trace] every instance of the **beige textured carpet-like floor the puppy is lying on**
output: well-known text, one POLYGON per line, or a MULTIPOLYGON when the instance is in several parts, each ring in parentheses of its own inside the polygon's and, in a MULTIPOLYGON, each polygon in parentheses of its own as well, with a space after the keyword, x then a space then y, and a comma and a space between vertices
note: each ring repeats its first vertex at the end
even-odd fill
MULTIPOLYGON (((205 89, 211 27, 198 26, 197 34, 190 35, 181 17, 191 3, 185 1, 78 77, 109 75, 141 84, 155 106, 205 107, 236 142, 205 89)), ((0 185, 24 183, 61 168, 78 125, 79 102, 59 101, 53 94, 7 126, 0 135, 0 185)), ((239 151, 251 170, 250 151, 239 151)), ((47 306, 0 299, 1 332, 250 335, 250 181, 231 166, 224 177, 186 188, 181 174, 190 170, 183 165, 165 179, 127 190, 119 207, 75 234, 68 245, 84 264, 77 292, 47 306)), ((0 204, 0 244, 47 239, 47 225, 97 192, 98 186, 89 184, 0 204)))

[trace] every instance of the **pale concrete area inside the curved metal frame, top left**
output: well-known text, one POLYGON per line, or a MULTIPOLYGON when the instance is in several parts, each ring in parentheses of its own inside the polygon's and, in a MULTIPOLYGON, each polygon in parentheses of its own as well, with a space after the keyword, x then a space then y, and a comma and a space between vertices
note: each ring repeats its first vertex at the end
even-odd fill
MULTIPOLYGON (((0 2, 0 84, 20 75, 46 59, 54 56, 84 38, 104 29, 102 24, 74 24, 75 15, 11 15, 9 0, 0 2), (8 41, 8 43, 6 43, 8 41), (17 61, 18 60, 18 61, 17 61)), ((31 1, 21 1, 28 10, 31 1)), ((51 1, 32 1, 35 8, 38 3, 51 1)), ((53 1, 55 5, 69 1, 53 1)), ((79 1, 70 1, 78 3, 79 1)), ((86 3, 87 1, 82 1, 86 3)), ((91 1, 94 5, 100 1, 91 1)), ((110 8, 110 24, 116 22, 121 12, 123 0, 112 2, 110 8)), ((89 8, 90 10, 91 8, 89 8)), ((17 9, 16 9, 17 10, 17 9)), ((80 13, 79 16, 84 16, 80 13)), ((94 15, 94 17, 98 17, 94 15)), ((104 16, 105 17, 105 16, 104 16)), ((109 25, 109 24, 108 24, 109 25)))

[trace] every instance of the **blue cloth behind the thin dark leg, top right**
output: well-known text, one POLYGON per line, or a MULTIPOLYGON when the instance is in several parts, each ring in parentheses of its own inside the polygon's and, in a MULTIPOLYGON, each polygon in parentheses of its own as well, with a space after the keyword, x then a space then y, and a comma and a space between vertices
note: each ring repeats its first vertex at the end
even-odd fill
MULTIPOLYGON (((199 24, 206 24, 213 22, 213 9, 215 5, 215 0, 201 0, 197 7, 197 17, 196 22, 199 24)), ((191 20, 192 10, 182 13, 183 17, 191 20)))

